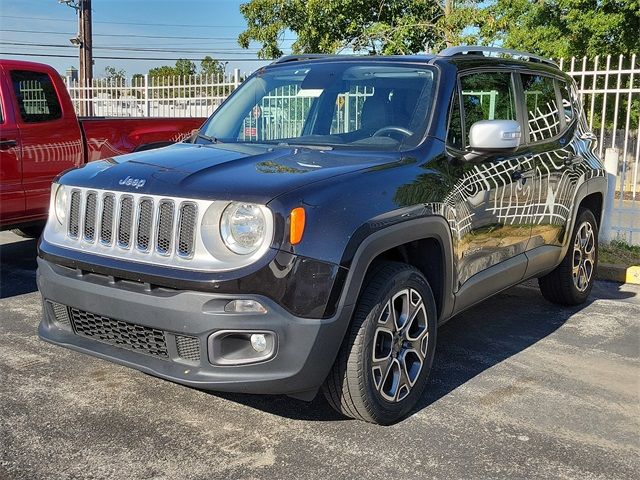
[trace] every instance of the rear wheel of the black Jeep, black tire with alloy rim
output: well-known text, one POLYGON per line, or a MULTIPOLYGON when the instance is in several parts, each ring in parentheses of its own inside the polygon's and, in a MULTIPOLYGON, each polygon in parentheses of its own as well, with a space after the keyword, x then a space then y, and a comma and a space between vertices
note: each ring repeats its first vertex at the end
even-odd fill
MULTIPOLYGON (((582 248, 582 246, 581 246, 582 248)), ((593 282, 596 277, 596 269, 598 266, 598 223, 591 210, 581 208, 578 210, 578 216, 576 218, 576 224, 573 227, 571 233, 571 239, 569 243, 569 249, 565 257, 562 259, 560 265, 556 267, 551 273, 540 277, 538 279, 538 285, 540 285, 540 291, 542 296, 552 303, 558 305, 580 305, 584 303, 593 288, 593 282), (583 238, 584 228, 591 232, 590 245, 585 246, 580 252, 576 252, 578 248, 576 242, 578 237, 583 238), (587 247, 592 247, 592 252, 587 255, 585 252, 587 247), (580 259, 580 262, 585 263, 585 274, 588 274, 588 278, 585 281, 580 281, 582 276, 581 270, 578 269, 578 279, 574 277, 575 263, 580 259), (587 260, 591 258, 589 262, 587 260), (586 266, 590 263, 589 267, 586 266), (587 271, 588 270, 588 271, 587 271)), ((582 279, 584 280, 584 278, 582 279)))

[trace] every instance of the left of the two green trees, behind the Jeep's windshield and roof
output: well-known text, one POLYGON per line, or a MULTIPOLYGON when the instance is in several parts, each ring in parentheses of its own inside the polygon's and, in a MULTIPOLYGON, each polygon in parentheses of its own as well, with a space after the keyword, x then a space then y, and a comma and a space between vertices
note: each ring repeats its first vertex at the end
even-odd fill
POLYGON ((261 58, 282 55, 292 32, 294 53, 342 49, 382 54, 439 50, 465 41, 467 27, 484 15, 481 1, 425 0, 249 0, 240 6, 247 29, 238 43, 261 44, 261 58))

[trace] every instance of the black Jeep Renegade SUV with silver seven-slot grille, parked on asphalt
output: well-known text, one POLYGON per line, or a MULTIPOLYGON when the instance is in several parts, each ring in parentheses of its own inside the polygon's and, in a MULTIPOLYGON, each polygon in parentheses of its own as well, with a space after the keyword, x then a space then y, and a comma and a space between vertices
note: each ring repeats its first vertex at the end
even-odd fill
POLYGON ((40 336, 395 422, 453 315, 532 277, 588 297, 594 142, 571 78, 530 54, 285 57, 189 141, 56 180, 40 336))

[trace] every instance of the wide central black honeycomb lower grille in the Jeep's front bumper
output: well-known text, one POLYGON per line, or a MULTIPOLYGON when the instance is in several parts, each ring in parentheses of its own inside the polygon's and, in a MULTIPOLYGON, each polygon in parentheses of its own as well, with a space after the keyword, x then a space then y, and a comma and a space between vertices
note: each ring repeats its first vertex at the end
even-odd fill
POLYGON ((69 308, 69 313, 73 331, 77 335, 155 357, 169 357, 163 330, 114 320, 77 308, 69 308))

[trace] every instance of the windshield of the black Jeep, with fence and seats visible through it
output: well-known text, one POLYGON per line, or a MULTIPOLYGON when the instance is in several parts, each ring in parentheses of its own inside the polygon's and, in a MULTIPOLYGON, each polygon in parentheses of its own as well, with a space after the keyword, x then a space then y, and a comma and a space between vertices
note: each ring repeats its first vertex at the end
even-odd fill
POLYGON ((434 71, 380 62, 267 68, 207 121, 202 139, 399 150, 430 116, 434 71))

